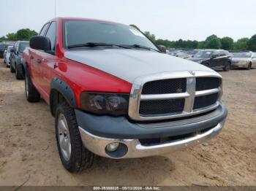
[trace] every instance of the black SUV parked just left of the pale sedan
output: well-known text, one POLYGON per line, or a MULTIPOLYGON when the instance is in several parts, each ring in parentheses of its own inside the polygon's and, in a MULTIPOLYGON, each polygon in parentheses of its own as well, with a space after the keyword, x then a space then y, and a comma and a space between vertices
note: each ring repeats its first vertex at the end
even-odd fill
POLYGON ((231 67, 230 52, 227 50, 200 50, 190 61, 201 63, 211 69, 229 71, 231 67))

